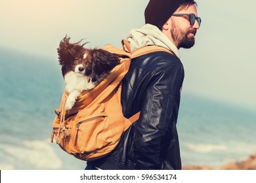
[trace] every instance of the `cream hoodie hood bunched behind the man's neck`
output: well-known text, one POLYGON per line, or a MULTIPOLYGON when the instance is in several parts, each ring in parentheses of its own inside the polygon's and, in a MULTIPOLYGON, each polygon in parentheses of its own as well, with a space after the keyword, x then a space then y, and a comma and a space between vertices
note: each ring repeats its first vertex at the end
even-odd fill
POLYGON ((180 58, 179 50, 175 44, 155 25, 146 24, 140 29, 132 29, 129 32, 127 41, 130 42, 132 52, 144 46, 156 45, 170 50, 180 58))

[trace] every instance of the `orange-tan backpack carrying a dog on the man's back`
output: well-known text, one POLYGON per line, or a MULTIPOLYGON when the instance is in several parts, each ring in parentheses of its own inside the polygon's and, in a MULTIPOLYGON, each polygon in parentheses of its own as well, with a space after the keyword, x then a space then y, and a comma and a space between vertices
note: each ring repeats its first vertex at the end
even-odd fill
POLYGON ((64 105, 68 93, 64 91, 60 108, 55 110, 51 142, 54 138, 64 151, 75 158, 92 161, 114 150, 123 131, 139 119, 139 112, 125 118, 121 107, 121 80, 129 70, 131 59, 150 52, 169 52, 160 46, 146 46, 131 54, 129 42, 123 40, 122 46, 123 50, 111 44, 102 48, 118 54, 121 61, 105 80, 93 90, 83 91, 74 107, 66 111, 64 105))

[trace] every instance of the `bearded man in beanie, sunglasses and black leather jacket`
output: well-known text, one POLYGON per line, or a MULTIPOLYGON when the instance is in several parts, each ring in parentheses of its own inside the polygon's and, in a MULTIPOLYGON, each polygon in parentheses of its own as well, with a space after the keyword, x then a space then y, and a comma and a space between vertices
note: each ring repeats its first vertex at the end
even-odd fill
POLYGON ((171 51, 153 52, 131 61, 123 79, 123 114, 140 117, 127 129, 116 149, 91 161, 87 169, 181 169, 177 117, 184 70, 179 48, 195 42, 198 18, 196 3, 188 0, 150 0, 141 29, 133 29, 131 49, 162 46, 171 51))

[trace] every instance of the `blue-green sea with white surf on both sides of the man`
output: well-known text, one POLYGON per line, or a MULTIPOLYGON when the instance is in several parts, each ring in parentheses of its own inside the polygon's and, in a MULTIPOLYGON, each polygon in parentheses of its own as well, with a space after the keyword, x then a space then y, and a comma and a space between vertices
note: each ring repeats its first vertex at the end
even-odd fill
MULTIPOLYGON (((0 48, 0 169, 83 170, 51 143, 64 81, 57 59, 0 48)), ((218 167, 256 152, 256 111, 182 93, 177 128, 182 165, 218 167)))

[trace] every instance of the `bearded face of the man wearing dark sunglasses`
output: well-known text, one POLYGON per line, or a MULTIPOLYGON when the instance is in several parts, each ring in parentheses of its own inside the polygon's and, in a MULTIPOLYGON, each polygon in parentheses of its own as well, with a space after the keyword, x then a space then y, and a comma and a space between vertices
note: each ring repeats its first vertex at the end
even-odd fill
MULTIPOLYGON (((198 16, 196 7, 191 5, 183 10, 177 10, 174 14, 195 14, 198 16)), ((199 29, 197 20, 190 25, 188 16, 171 16, 171 38, 177 48, 191 48, 195 43, 196 30, 199 29)))

